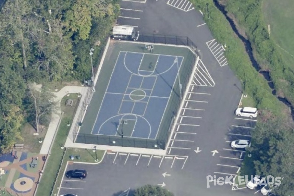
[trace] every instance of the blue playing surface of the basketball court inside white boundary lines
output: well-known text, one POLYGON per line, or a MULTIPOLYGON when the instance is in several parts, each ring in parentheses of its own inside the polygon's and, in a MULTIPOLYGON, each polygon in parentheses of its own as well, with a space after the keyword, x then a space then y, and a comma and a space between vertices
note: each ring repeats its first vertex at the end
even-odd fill
POLYGON ((183 58, 120 51, 91 133, 156 139, 183 58))

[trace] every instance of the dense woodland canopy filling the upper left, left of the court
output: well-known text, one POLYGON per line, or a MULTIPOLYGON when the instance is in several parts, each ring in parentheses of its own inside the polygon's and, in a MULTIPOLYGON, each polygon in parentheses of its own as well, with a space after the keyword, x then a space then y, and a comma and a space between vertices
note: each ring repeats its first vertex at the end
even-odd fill
POLYGON ((95 66, 118 14, 117 0, 9 0, 1 5, 2 153, 20 139, 24 123, 37 129, 44 112, 51 112, 50 97, 38 95, 29 85, 90 79, 89 50, 95 49, 95 66))

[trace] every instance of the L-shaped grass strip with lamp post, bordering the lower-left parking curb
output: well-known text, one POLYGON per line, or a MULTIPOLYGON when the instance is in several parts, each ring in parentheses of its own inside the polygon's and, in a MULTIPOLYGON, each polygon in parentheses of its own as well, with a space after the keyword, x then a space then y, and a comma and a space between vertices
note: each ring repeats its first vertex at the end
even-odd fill
MULTIPOLYGON (((104 155, 104 150, 97 150, 97 159, 100 161, 103 158, 104 155)), ((63 173, 66 167, 66 163, 68 161, 72 161, 70 159, 70 156, 73 155, 74 156, 74 161, 78 161, 78 162, 85 162, 85 163, 95 163, 95 152, 93 152, 92 150, 89 149, 81 149, 81 148, 68 148, 66 150, 65 156, 64 156, 64 160, 63 163, 61 165, 60 168, 60 174, 58 176, 58 179, 56 181, 55 187, 54 187, 54 191, 53 191, 53 195, 57 194, 58 192, 58 188, 60 186, 62 177, 63 177, 63 173), (77 156, 80 155, 80 159, 77 159, 77 156)))

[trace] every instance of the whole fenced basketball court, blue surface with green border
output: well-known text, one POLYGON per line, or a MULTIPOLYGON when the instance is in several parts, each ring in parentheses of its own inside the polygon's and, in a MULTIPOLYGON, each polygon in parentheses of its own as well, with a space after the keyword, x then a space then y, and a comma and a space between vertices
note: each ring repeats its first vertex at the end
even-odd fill
POLYGON ((136 139, 156 144, 162 135, 166 137, 181 99, 181 80, 185 82, 188 77, 187 71, 182 72, 191 67, 184 68, 191 61, 188 48, 168 47, 114 41, 77 142, 89 143, 86 137, 91 135, 96 139, 90 139, 91 143, 105 144, 102 140, 107 140, 111 145, 135 147, 131 141, 135 143, 136 139), (81 137, 83 133, 87 135, 81 137))

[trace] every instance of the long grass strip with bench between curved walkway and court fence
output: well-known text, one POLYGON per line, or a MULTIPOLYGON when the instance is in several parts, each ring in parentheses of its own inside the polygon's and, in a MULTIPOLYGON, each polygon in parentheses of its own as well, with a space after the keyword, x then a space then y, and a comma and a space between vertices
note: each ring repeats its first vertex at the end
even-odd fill
POLYGON ((70 122, 70 124, 72 123, 74 114, 78 107, 79 100, 80 98, 78 98, 78 95, 76 93, 71 93, 70 96, 65 96, 65 98, 61 100, 61 111, 64 112, 64 115, 62 117, 56 138, 54 140, 51 154, 48 157, 46 167, 44 169, 44 174, 41 178, 36 196, 51 195, 51 191, 53 189, 54 182, 61 164, 62 156, 65 151, 64 149, 62 150, 60 147, 61 145, 64 145, 70 130, 70 126, 67 126, 67 122, 70 122), (67 99, 74 100, 72 106, 65 106, 65 101, 67 99))

